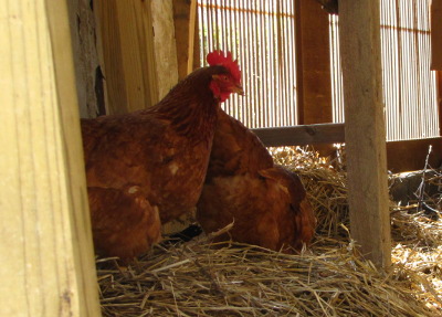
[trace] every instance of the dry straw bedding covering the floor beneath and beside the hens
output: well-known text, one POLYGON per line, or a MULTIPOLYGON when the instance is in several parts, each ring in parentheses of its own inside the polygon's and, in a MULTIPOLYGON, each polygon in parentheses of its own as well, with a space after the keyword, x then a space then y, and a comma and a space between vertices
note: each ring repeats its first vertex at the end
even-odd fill
POLYGON ((379 272, 348 236, 345 172, 313 151, 273 154, 299 173, 316 210, 318 236, 307 251, 227 247, 199 236, 158 245, 126 271, 102 258, 103 316, 440 316, 440 222, 392 210, 394 265, 379 272))

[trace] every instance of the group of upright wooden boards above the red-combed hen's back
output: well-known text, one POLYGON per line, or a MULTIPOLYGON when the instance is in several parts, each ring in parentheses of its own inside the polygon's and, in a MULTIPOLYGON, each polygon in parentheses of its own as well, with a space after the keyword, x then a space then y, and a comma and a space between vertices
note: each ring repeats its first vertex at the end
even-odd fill
POLYGON ((178 82, 172 0, 70 0, 83 118, 150 107, 178 82))

